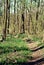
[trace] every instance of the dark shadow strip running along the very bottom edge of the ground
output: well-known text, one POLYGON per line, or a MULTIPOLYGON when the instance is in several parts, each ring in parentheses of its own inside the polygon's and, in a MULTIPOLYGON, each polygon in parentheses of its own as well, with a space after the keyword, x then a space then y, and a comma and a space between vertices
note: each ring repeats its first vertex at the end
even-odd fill
POLYGON ((39 65, 40 63, 43 63, 44 64, 44 58, 40 59, 40 60, 37 60, 35 62, 24 62, 24 63, 0 63, 0 65, 39 65))

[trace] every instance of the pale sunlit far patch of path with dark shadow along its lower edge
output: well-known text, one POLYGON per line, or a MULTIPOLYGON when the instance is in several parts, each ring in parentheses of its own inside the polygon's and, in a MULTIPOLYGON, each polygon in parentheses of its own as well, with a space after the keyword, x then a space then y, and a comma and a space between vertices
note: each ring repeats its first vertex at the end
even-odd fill
POLYGON ((38 42, 29 43, 29 44, 27 44, 27 46, 32 51, 37 51, 39 49, 44 48, 44 45, 40 45, 40 43, 38 43, 38 42))

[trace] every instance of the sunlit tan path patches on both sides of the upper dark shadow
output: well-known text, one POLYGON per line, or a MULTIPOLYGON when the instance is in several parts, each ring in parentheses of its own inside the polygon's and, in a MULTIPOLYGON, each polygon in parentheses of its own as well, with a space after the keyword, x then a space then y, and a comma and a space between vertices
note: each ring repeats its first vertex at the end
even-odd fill
POLYGON ((44 46, 42 45, 38 46, 38 44, 40 43, 38 42, 27 43, 28 48, 33 51, 32 57, 34 58, 38 58, 44 55, 44 46))

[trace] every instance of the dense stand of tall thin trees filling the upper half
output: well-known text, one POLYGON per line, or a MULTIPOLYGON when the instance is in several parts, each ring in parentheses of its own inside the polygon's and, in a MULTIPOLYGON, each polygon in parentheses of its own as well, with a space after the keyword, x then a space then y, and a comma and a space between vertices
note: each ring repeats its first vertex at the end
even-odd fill
POLYGON ((44 0, 0 0, 2 38, 7 34, 36 34, 43 38, 44 0))

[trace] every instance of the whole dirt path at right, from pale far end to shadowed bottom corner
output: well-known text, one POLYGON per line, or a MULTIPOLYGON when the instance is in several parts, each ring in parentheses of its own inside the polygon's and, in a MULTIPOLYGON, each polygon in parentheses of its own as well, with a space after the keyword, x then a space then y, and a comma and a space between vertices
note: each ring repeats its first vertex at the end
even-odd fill
POLYGON ((44 45, 40 45, 40 42, 27 42, 27 46, 32 50, 32 60, 29 62, 34 62, 34 65, 44 65, 44 45))

